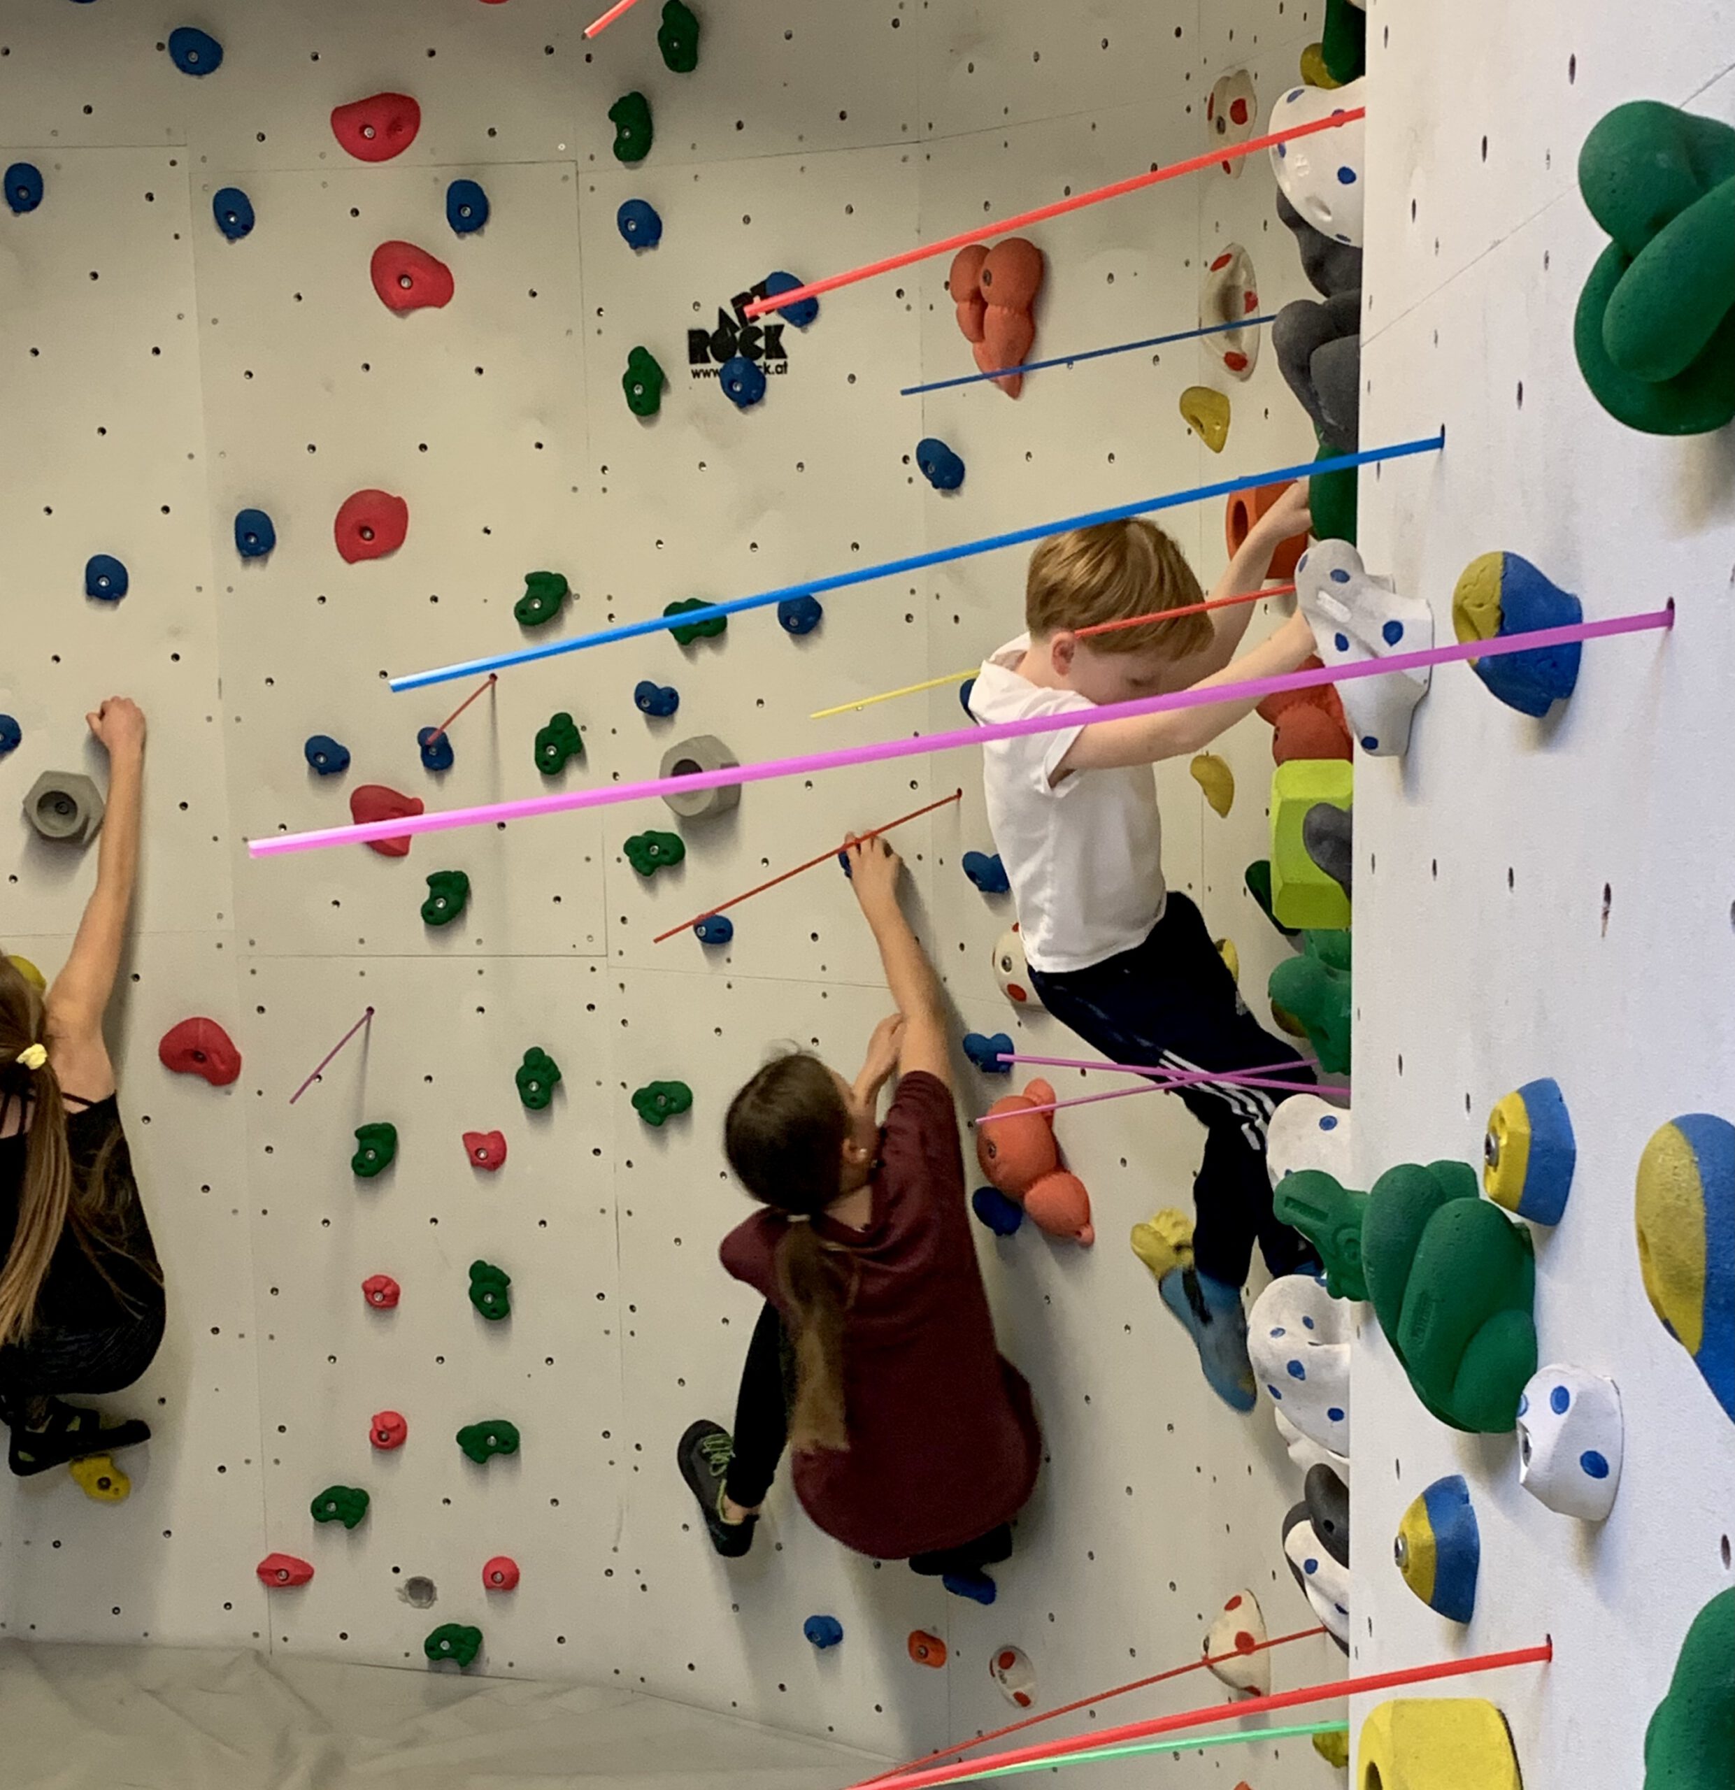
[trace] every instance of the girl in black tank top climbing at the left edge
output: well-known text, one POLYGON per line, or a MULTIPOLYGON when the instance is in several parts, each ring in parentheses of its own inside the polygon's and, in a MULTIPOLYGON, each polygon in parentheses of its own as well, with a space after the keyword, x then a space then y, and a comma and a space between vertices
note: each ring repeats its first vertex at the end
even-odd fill
POLYGON ((111 696, 86 720, 109 754, 97 888, 47 995, 0 952, 0 1419, 18 1475, 147 1441, 145 1423, 104 1428, 57 1394, 131 1385, 163 1341, 163 1271, 102 1038, 138 874, 145 716, 111 696))

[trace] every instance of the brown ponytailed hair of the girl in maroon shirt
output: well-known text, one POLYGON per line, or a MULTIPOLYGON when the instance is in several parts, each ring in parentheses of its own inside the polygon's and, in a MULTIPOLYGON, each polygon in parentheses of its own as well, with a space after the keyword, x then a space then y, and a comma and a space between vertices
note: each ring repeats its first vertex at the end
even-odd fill
POLYGON ((777 1285, 795 1330, 793 1448, 849 1448, 843 1411, 843 1321, 856 1264, 811 1219, 838 1198, 849 1106, 833 1072, 800 1051, 765 1065, 723 1121, 729 1165, 754 1199, 784 1212, 777 1285))

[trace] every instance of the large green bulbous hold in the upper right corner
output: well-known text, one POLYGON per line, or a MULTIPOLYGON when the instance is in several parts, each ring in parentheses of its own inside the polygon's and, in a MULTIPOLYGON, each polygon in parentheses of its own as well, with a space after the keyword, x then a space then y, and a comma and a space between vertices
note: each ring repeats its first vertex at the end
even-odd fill
POLYGON ((1721 430, 1735 417, 1735 131, 1629 100, 1585 138, 1579 192, 1611 238, 1572 331, 1592 396, 1647 435, 1721 430))

